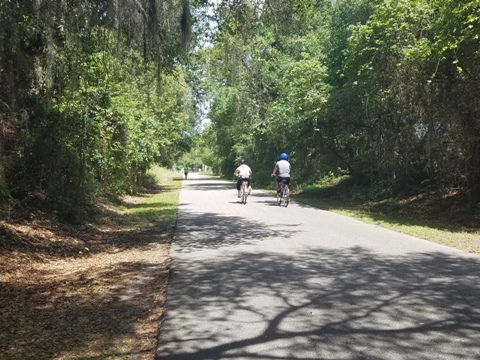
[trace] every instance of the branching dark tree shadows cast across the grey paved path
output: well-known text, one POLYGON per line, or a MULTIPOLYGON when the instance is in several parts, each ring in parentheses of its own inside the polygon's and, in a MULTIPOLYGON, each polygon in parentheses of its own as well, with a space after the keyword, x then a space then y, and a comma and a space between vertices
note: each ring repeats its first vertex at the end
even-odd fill
MULTIPOLYGON (((279 236, 232 216, 184 223, 184 252, 279 236)), ((177 318, 160 328, 155 359, 478 359, 479 269, 474 257, 362 247, 177 259, 167 303, 177 318)))

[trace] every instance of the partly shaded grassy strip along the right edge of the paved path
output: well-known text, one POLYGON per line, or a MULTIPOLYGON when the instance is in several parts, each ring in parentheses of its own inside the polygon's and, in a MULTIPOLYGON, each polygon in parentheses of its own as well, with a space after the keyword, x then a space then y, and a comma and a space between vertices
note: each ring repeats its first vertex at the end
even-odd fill
POLYGON ((478 216, 465 210, 458 194, 417 193, 392 198, 369 191, 338 182, 306 187, 292 198, 300 204, 480 254, 478 216))

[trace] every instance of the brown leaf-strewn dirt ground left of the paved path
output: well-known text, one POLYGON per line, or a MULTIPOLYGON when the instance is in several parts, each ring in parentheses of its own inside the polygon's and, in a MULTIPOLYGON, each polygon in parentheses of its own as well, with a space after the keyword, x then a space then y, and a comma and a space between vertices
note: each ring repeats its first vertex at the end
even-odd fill
POLYGON ((173 224, 128 230, 103 211, 108 226, 0 222, 1 358, 153 358, 173 224))

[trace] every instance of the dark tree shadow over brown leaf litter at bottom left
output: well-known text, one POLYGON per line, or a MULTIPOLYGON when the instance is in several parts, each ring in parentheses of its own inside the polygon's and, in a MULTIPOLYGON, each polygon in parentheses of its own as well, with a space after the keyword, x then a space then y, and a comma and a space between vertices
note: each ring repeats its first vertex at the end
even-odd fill
MULTIPOLYGON (((160 288, 168 272, 161 263, 133 262, 113 269, 106 264, 101 271, 87 270, 68 278, 52 278, 50 271, 39 275, 50 281, 27 286, 0 283, 0 353, 4 359, 47 360, 70 355, 93 359, 98 354, 99 359, 124 358, 128 354, 115 354, 116 346, 121 339, 139 338, 136 324, 147 321, 156 301, 153 297, 146 300, 142 289, 160 288), (102 282, 105 279, 107 283, 102 282), (88 353, 84 353, 86 348, 88 353)), ((141 344, 137 349, 152 353, 151 347, 141 344)))

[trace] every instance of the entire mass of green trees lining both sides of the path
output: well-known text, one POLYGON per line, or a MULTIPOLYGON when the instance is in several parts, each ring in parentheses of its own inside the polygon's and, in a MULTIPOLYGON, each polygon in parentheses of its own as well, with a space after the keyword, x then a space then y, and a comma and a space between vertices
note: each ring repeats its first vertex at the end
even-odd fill
POLYGON ((266 183, 287 152, 297 183, 480 202, 478 1, 6 0, 0 20, 0 203, 81 218, 192 144, 219 174, 246 158, 266 183))

